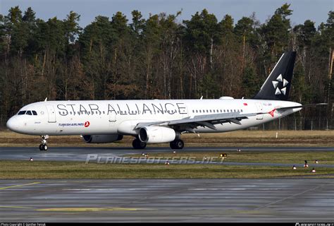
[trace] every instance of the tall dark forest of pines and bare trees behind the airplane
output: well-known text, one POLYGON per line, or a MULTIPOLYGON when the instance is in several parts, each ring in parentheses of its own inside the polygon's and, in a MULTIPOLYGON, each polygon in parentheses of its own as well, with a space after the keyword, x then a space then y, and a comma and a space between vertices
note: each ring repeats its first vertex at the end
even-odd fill
MULTIPOLYGON (((264 23, 256 13, 218 21, 206 9, 143 18, 132 11, 97 16, 85 28, 80 15, 36 18, 18 6, 0 14, 1 126, 20 107, 48 100, 252 98, 281 54, 297 51, 289 100, 307 108, 293 117, 322 117, 333 127, 334 11, 316 25, 292 25, 290 4, 264 23), (328 122, 329 121, 329 122, 328 122)), ((319 121, 320 124, 320 121, 319 121)))

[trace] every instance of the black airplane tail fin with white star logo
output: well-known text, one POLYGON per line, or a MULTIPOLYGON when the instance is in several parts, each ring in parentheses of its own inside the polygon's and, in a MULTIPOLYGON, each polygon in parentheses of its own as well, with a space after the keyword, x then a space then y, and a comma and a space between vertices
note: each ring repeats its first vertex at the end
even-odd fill
POLYGON ((296 52, 285 52, 252 99, 287 100, 290 92, 296 52))

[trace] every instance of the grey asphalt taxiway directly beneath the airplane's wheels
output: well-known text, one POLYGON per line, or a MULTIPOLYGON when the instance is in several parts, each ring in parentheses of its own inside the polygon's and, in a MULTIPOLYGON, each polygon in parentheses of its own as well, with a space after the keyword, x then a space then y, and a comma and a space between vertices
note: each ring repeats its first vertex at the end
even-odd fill
MULTIPOLYGON (((237 148, 221 147, 221 148, 184 148, 183 150, 176 150, 180 153, 192 153, 192 152, 218 152, 223 153, 225 151, 236 151, 237 148)), ((242 152, 259 152, 259 151, 334 151, 334 147, 276 147, 276 148, 242 148, 242 152)), ((144 150, 135 150, 132 148, 105 148, 105 147, 53 147, 47 151, 41 151, 38 148, 22 148, 22 147, 0 147, 0 160, 29 160, 32 157, 33 160, 56 160, 56 161, 87 161, 97 162, 100 158, 101 162, 109 159, 115 159, 115 162, 130 162, 128 157, 123 155, 134 155, 142 153, 171 153, 171 148, 147 148, 144 150), (96 158, 96 159, 95 159, 96 158), (117 160, 116 160, 117 159, 117 160)), ((141 160, 142 163, 164 163, 166 160, 141 160)), ((249 166, 273 166, 273 167, 292 167, 291 164, 284 163, 271 163, 271 162, 202 162, 202 161, 186 161, 186 160, 169 160, 170 163, 182 163, 182 164, 213 164, 213 165, 249 165, 249 166)), ((303 162, 296 162, 296 167, 303 167, 303 162)), ((334 165, 322 165, 313 164, 309 162, 309 167, 330 167, 334 165)))

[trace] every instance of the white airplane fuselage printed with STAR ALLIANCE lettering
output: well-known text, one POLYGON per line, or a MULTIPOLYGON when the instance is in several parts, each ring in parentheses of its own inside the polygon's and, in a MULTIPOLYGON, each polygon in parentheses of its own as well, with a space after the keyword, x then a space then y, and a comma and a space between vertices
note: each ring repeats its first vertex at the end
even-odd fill
MULTIPOLYGON (((199 115, 237 112, 271 112, 278 107, 299 106, 299 103, 278 100, 86 100, 47 101, 26 105, 21 111, 37 114, 16 114, 8 120, 12 131, 30 135, 95 135, 121 134, 136 136, 138 123, 170 121, 199 115)), ((216 124, 216 130, 198 126, 199 133, 217 133, 246 129, 264 124, 301 108, 287 109, 272 114, 258 114, 242 119, 241 124, 216 124)))

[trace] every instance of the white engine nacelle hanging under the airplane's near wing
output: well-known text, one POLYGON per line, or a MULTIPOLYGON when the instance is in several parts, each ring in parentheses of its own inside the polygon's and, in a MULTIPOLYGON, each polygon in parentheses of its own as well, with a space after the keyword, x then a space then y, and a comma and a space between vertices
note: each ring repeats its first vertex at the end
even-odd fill
POLYGON ((143 127, 139 131, 140 141, 145 143, 167 143, 174 141, 175 130, 163 126, 143 127))

